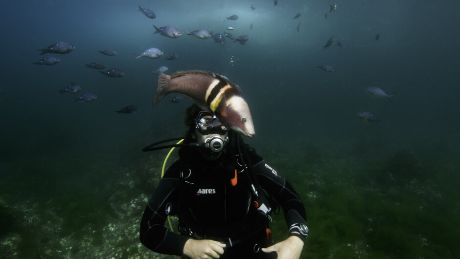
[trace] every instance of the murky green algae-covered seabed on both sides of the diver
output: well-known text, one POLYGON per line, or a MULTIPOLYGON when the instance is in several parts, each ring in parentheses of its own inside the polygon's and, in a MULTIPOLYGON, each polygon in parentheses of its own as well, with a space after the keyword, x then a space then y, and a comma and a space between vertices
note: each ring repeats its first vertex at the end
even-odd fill
MULTIPOLYGON (((283 153, 258 148, 305 204, 302 259, 460 257, 459 165, 449 145, 331 149, 309 140, 283 153)), ((101 157, 67 174, 76 165, 39 156, 9 163, 17 173, 0 182, 2 258, 170 258, 138 238, 166 152, 131 162, 101 157)), ((275 241, 287 237, 282 212, 271 228, 275 241)))

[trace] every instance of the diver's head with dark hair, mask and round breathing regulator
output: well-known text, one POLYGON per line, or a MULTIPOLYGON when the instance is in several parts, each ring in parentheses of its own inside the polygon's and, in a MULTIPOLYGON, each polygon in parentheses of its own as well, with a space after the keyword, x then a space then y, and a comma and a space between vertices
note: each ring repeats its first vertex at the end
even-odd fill
POLYGON ((222 125, 215 114, 194 104, 187 109, 185 124, 188 126, 188 142, 203 144, 199 150, 204 158, 214 160, 220 157, 229 142, 229 129, 222 125))

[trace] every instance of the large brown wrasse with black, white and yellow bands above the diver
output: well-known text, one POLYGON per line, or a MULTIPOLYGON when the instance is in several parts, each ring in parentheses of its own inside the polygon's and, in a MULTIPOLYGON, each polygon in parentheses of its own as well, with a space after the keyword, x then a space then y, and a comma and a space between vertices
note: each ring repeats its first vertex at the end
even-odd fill
POLYGON ((249 106, 241 89, 226 77, 202 70, 179 71, 158 76, 157 94, 152 104, 158 104, 168 93, 181 93, 200 108, 216 114, 222 124, 251 137, 255 134, 249 106))

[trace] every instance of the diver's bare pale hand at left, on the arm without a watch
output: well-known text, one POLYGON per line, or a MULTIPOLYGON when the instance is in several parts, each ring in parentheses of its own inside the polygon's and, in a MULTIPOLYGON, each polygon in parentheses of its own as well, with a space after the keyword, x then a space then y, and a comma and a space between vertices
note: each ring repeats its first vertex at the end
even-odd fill
POLYGON ((226 244, 209 239, 188 239, 184 245, 184 255, 191 259, 219 258, 226 244))

